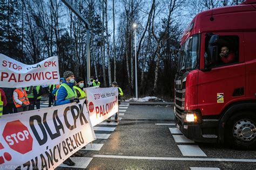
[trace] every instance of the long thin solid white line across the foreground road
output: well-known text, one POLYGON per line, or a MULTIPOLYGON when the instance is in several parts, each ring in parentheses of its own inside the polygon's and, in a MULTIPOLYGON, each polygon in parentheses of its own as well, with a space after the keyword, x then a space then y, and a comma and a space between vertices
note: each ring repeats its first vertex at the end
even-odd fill
POLYGON ((95 154, 93 158, 119 158, 119 159, 146 159, 146 160, 181 160, 181 161, 218 161, 218 162, 256 162, 256 159, 228 159, 228 158, 173 158, 173 157, 133 157, 122 155, 95 154))

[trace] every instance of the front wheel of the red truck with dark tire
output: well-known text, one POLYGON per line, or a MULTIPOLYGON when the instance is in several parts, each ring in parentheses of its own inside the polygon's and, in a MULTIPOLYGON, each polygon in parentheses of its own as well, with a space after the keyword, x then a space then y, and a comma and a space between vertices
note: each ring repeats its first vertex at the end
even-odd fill
POLYGON ((240 150, 256 148, 256 114, 239 112, 228 119, 225 130, 226 143, 240 150))

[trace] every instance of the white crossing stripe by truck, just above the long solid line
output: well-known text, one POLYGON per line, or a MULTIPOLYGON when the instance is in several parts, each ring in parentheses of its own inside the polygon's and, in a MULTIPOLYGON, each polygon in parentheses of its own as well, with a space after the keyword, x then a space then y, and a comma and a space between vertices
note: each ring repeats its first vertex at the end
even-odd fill
POLYGON ((178 145, 183 156, 207 157, 207 155, 197 145, 178 145))

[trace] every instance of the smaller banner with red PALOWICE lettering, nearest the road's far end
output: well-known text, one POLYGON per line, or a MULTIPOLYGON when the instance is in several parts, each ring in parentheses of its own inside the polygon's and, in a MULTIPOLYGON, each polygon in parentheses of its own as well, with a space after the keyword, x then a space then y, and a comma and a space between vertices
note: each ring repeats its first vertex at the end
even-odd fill
POLYGON ((118 89, 86 88, 88 111, 92 126, 99 124, 118 112, 118 89))

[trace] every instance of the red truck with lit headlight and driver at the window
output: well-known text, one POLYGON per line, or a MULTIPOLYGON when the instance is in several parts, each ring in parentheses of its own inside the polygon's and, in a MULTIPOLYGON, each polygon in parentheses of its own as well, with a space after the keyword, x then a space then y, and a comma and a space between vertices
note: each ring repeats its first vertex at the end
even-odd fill
POLYGON ((181 38, 174 81, 187 138, 256 148, 256 0, 198 13, 181 38))

